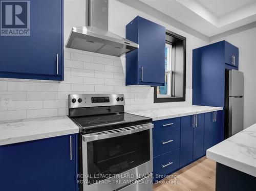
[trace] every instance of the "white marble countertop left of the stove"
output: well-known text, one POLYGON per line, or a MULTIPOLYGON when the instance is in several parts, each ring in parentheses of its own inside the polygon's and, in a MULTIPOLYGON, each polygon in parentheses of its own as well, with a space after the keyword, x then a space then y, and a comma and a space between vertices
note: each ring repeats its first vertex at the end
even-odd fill
POLYGON ((0 146, 78 132, 68 116, 4 121, 0 122, 0 146))

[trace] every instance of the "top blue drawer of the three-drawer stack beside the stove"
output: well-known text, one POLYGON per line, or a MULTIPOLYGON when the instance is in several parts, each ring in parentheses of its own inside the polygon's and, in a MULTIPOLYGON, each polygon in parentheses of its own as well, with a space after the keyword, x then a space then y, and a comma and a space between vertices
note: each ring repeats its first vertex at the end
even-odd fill
POLYGON ((180 117, 168 118, 167 120, 154 121, 154 132, 170 130, 176 127, 180 127, 180 117))

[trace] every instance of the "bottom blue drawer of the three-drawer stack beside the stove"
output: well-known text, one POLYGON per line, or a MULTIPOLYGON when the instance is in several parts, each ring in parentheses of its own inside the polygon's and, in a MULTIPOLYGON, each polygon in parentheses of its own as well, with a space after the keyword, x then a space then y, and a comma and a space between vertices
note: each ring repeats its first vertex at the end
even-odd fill
POLYGON ((164 178, 173 171, 180 168, 180 149, 170 151, 153 159, 154 180, 164 178))

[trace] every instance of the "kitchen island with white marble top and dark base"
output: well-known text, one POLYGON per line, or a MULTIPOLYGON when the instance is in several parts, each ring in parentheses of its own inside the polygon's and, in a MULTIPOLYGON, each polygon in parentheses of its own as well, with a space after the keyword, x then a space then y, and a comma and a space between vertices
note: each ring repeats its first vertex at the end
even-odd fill
POLYGON ((216 190, 256 190, 256 124, 206 151, 217 162, 216 190))

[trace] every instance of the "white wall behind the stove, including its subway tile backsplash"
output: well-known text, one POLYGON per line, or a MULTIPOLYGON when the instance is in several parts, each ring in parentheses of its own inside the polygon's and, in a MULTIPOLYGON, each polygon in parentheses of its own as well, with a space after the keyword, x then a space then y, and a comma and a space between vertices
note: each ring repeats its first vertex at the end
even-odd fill
MULTIPOLYGON (((65 43, 73 26, 85 25, 85 1, 65 0, 65 43)), ((11 94, 13 106, 0 107, 0 121, 33 117, 60 116, 68 113, 70 93, 124 93, 125 110, 191 105, 192 50, 207 44, 166 23, 116 0, 109 1, 109 29, 125 36, 125 25, 137 15, 150 19, 187 38, 186 102, 153 103, 150 86, 125 86, 125 57, 65 49, 65 81, 2 79, 0 94, 11 94)))

